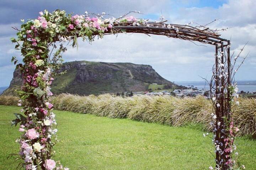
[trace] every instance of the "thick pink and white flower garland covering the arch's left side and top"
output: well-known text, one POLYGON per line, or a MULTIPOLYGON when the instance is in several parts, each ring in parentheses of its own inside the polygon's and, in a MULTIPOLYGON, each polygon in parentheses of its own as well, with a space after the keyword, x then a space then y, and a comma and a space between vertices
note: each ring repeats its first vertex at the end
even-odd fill
POLYGON ((74 47, 78 36, 91 42, 95 35, 102 38, 114 23, 138 23, 134 17, 103 19, 103 15, 89 17, 86 12, 85 15, 67 16, 65 11, 49 13, 45 10, 39 12, 37 19, 30 19, 21 25, 17 39, 11 38, 12 42, 17 43, 15 49, 21 50, 24 57, 24 64, 18 63, 16 57, 12 57, 12 62, 20 68, 24 80, 21 91, 17 91, 21 98, 18 106, 22 106, 23 101, 29 104, 21 109, 26 117, 16 114, 17 119, 12 124, 21 123, 19 131, 23 134, 17 142, 20 143, 19 155, 23 160, 20 165, 26 170, 68 170, 62 165, 57 166, 51 159, 57 140, 57 129, 53 129, 53 125, 57 123, 52 111, 53 104, 48 102, 49 96, 53 95, 50 91, 52 72, 62 64, 62 53, 66 48, 60 45, 50 59, 49 46, 56 48, 56 41, 73 40, 74 47))

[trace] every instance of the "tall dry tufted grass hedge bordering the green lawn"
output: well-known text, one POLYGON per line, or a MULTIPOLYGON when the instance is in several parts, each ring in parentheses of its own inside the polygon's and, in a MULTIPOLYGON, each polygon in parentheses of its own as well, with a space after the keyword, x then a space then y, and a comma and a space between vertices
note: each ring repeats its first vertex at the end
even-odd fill
MULTIPOLYGON (((18 97, 0 96, 0 105, 16 105, 18 100, 18 97)), ((62 111, 90 113, 109 118, 128 118, 170 126, 200 123, 204 130, 212 130, 210 114, 213 112, 213 107, 203 96, 178 98, 61 94, 52 97, 51 102, 55 109, 62 111)), ((233 107, 234 122, 240 129, 239 135, 256 135, 256 99, 240 98, 239 102, 239 105, 233 107)))

